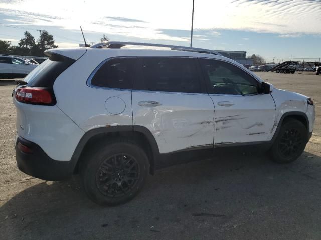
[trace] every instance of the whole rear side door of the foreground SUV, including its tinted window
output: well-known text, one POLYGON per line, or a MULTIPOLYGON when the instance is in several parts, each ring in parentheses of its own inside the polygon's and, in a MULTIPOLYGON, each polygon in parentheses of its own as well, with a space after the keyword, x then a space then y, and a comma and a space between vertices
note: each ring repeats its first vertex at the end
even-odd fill
POLYGON ((214 105, 199 74, 194 58, 138 57, 133 124, 152 133, 160 153, 213 147, 214 105))

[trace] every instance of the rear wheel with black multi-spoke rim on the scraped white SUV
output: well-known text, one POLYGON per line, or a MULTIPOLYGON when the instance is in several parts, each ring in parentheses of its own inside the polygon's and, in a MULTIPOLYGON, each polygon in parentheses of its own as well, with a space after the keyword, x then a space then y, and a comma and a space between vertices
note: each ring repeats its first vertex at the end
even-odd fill
POLYGON ((142 189, 149 169, 146 153, 126 140, 104 144, 88 154, 81 176, 89 198, 112 206, 134 198, 142 189))

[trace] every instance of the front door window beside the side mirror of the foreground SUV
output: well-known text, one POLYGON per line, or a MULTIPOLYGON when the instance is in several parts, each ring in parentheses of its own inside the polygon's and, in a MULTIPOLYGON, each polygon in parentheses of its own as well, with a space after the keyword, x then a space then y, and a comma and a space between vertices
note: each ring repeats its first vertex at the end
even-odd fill
POLYGON ((200 59, 209 93, 246 95, 258 93, 258 82, 242 69, 223 61, 200 59))

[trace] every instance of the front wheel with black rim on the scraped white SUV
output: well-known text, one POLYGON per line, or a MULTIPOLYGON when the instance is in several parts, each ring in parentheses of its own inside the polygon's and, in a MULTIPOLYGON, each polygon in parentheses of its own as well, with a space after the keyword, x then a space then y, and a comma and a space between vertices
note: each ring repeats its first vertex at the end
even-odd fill
POLYGON ((304 151, 307 143, 307 129, 296 119, 286 120, 270 149, 272 161, 290 163, 304 151))

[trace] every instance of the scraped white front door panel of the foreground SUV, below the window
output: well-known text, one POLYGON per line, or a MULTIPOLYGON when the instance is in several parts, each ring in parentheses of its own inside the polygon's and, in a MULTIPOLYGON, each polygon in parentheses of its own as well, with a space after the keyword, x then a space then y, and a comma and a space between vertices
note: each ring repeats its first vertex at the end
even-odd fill
POLYGON ((269 141, 275 120, 270 94, 210 94, 215 105, 214 144, 269 141))

